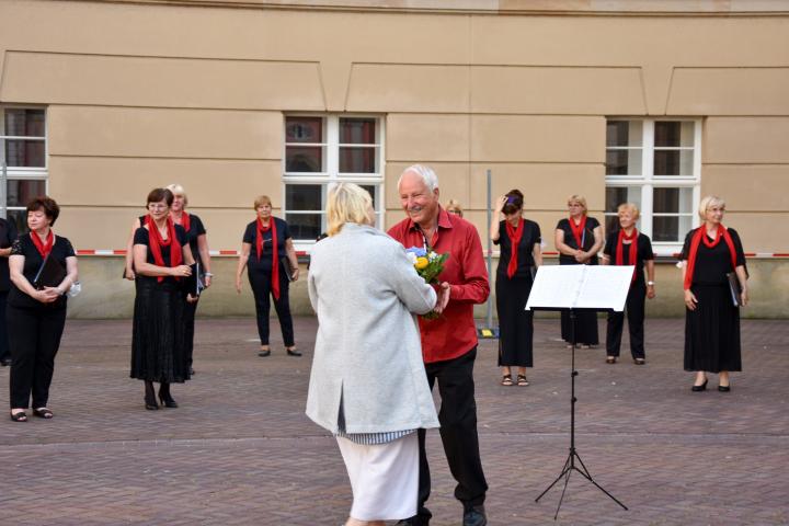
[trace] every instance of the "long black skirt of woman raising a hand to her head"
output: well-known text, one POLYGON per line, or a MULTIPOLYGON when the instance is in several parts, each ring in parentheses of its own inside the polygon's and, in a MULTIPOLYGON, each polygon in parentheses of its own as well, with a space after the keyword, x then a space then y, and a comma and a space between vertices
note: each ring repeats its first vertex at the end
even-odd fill
POLYGON ((499 365, 533 367, 534 313, 526 310, 531 276, 496 275, 499 315, 499 365))

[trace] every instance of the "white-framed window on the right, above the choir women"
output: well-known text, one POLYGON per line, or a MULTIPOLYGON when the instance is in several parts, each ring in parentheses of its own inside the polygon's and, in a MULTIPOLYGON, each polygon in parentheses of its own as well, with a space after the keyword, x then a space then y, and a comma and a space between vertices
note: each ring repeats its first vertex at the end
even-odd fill
POLYGON ((638 229, 659 254, 676 252, 697 225, 701 182, 701 121, 622 118, 606 123, 606 232, 617 207, 634 203, 638 229))

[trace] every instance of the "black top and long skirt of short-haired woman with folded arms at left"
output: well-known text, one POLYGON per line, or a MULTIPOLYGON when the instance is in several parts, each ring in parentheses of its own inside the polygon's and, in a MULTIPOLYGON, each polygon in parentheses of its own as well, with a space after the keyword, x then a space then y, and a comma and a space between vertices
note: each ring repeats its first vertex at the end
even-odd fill
MULTIPOLYGON (((186 232, 175 225, 175 238, 186 244, 186 232)), ((134 244, 148 249, 148 263, 156 264, 146 228, 135 232, 134 244)), ((170 264, 170 245, 161 247, 162 259, 170 264)), ((135 279, 134 321, 132 330, 132 378, 160 382, 183 382, 190 379, 184 344, 183 310, 185 295, 181 283, 165 276, 137 274, 135 279)))

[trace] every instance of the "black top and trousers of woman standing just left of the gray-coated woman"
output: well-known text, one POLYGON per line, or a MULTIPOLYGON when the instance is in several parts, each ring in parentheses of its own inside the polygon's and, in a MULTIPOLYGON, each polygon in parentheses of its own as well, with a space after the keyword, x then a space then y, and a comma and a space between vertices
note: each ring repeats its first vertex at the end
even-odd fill
POLYGON ((255 299, 255 313, 258 318, 258 335, 261 345, 268 345, 268 313, 271 312, 272 294, 272 270, 273 265, 279 266, 279 299, 274 298, 274 309, 279 318, 279 328, 282 329, 283 343, 286 347, 295 345, 293 317, 290 316, 290 298, 289 282, 286 270, 282 264, 282 259, 287 256, 285 250, 285 241, 290 239, 290 229, 287 222, 278 217, 271 219, 276 224, 277 230, 277 259, 274 260, 274 251, 272 250, 272 231, 263 232, 263 243, 261 247, 261 256, 258 259, 258 220, 247 225, 244 230, 243 242, 252 245, 249 260, 247 260, 247 276, 249 277, 250 287, 255 299))

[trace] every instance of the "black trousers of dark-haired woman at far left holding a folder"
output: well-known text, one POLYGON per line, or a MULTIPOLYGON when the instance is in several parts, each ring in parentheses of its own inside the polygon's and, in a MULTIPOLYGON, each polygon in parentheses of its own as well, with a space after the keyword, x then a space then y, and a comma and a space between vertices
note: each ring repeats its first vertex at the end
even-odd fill
POLYGON ((55 355, 66 325, 66 309, 19 308, 9 305, 5 319, 11 347, 11 409, 46 407, 55 373, 55 355))

